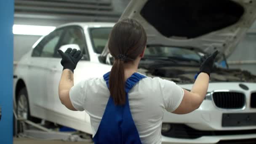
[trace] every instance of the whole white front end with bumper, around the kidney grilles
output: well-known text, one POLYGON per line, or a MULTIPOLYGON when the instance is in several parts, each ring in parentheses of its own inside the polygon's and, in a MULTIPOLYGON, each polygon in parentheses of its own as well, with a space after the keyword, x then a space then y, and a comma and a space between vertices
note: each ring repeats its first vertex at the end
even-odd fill
MULTIPOLYGON (((256 91, 256 83, 245 84, 249 87, 249 91, 242 90, 238 86, 239 83, 210 83, 208 88, 208 92, 225 89, 244 93, 245 107, 241 109, 220 109, 216 107, 212 99, 205 99, 198 109, 186 115, 165 112, 163 123, 174 125, 172 127, 174 129, 170 130, 171 132, 162 133, 163 144, 243 144, 242 142, 226 142, 227 140, 243 141, 243 139, 244 141, 252 141, 246 144, 256 144, 254 118, 253 120, 249 119, 248 123, 251 124, 246 126, 244 123, 237 123, 237 125, 232 126, 222 125, 224 114, 256 113, 256 108, 252 108, 250 105, 251 93, 256 91), (184 126, 179 127, 179 125, 184 126)), ((192 85, 181 85, 181 87, 190 89, 192 85)))

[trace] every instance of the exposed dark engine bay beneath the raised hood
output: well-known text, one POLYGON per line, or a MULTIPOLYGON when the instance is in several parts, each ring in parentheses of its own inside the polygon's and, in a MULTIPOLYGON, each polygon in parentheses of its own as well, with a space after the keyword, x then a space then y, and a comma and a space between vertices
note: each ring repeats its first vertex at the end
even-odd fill
MULTIPOLYGON (((195 82, 195 74, 199 67, 158 67, 158 68, 140 68, 138 72, 149 77, 161 77, 179 84, 188 84, 195 82)), ((256 75, 241 69, 224 69, 216 67, 211 73, 210 82, 249 82, 256 83, 256 75)))

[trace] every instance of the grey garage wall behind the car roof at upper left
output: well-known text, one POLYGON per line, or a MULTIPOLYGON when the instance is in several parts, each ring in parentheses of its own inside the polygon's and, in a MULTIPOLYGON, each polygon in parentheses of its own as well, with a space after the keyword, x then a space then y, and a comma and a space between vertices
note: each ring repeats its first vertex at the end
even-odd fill
MULTIPOLYGON (((129 1, 15 0, 14 24, 56 27, 69 22, 115 22, 129 1)), ((14 35, 13 60, 19 61, 39 38, 33 35, 14 35)))

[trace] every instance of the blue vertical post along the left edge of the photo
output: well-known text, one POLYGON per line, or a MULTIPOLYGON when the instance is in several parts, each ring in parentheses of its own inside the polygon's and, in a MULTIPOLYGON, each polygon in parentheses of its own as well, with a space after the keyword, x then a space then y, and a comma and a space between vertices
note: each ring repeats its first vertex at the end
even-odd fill
POLYGON ((13 144, 14 0, 0 0, 0 144, 13 144))

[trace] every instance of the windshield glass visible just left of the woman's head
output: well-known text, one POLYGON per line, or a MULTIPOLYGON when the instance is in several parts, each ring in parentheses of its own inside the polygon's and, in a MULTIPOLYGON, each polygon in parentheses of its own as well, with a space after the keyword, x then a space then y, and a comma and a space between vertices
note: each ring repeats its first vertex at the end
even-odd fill
POLYGON ((112 27, 97 27, 89 29, 91 35, 91 43, 95 53, 102 53, 109 39, 111 30, 112 27))

